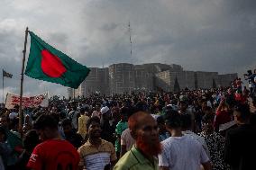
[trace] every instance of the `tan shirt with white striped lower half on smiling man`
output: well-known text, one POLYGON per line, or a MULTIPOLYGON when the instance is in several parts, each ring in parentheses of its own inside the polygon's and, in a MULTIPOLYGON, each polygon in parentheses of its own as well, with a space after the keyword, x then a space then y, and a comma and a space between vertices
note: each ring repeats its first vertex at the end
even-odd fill
POLYGON ((102 139, 99 147, 92 145, 89 140, 78 148, 80 155, 79 166, 86 166, 87 170, 100 170, 117 159, 112 143, 102 139))

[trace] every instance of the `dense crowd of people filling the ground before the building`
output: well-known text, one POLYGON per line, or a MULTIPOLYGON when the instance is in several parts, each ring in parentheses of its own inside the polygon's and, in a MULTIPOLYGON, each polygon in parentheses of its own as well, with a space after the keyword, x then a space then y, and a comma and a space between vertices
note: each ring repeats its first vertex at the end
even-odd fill
POLYGON ((229 87, 50 99, 0 112, 1 170, 250 170, 251 92, 229 87), (23 128, 19 128, 23 119, 23 128))

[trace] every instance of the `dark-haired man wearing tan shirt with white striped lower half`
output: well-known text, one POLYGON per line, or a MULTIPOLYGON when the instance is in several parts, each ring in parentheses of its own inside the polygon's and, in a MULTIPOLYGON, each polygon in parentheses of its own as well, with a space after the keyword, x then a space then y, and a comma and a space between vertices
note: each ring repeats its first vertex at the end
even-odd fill
POLYGON ((98 117, 87 121, 87 134, 89 139, 82 147, 78 148, 80 155, 79 170, 84 167, 91 169, 110 169, 117 159, 112 143, 100 139, 101 129, 98 117))

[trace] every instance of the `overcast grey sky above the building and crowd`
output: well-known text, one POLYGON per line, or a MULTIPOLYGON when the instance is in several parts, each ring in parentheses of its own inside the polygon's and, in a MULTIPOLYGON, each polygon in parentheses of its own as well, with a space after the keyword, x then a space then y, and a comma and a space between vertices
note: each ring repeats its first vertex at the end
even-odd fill
MULTIPOLYGON (((256 67, 255 0, 0 0, 0 68, 14 75, 5 93, 20 92, 26 26, 87 67, 162 62, 240 74, 256 67)), ((24 76, 24 94, 44 91, 67 95, 62 85, 24 76)))

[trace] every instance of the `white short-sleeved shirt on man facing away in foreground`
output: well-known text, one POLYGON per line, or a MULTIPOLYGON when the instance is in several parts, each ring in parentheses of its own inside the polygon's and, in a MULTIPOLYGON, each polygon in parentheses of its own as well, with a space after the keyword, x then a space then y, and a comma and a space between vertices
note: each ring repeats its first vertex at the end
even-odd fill
POLYGON ((188 135, 169 137, 161 144, 159 166, 169 167, 171 170, 198 170, 202 163, 209 161, 202 144, 188 135))

